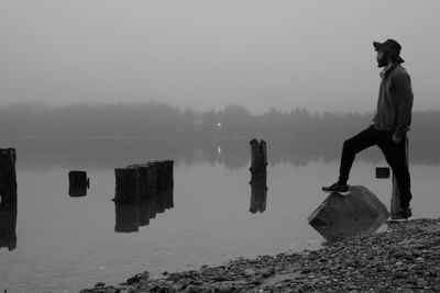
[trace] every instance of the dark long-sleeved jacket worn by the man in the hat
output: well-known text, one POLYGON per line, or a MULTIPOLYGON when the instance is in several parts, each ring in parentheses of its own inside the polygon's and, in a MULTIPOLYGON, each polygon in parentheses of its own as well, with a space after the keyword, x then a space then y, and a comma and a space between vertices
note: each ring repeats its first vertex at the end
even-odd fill
POLYGON ((411 124, 414 100, 411 79, 399 64, 394 64, 381 72, 381 77, 377 111, 373 119, 374 127, 404 137, 411 124))

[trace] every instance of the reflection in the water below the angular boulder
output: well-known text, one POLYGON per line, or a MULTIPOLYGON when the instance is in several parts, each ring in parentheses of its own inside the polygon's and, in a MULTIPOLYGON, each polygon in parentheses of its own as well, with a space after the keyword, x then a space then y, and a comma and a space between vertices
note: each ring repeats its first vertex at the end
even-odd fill
POLYGON ((372 234, 376 232, 387 219, 387 217, 371 217, 363 219, 345 221, 334 225, 318 226, 311 225, 322 237, 332 243, 343 238, 372 234))

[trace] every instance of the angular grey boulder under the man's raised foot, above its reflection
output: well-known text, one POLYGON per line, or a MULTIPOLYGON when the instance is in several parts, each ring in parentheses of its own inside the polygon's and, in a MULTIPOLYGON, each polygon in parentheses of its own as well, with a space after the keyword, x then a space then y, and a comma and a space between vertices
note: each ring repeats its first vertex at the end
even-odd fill
POLYGON ((367 218, 388 218, 386 206, 363 185, 350 187, 349 194, 332 192, 307 218, 316 228, 367 218))

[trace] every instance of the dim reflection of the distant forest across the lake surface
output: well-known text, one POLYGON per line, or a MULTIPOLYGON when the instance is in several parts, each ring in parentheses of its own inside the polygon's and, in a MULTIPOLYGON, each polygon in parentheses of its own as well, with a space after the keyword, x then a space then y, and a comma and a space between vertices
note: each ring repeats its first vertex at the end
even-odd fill
MULTIPOLYGON (((114 168, 127 161, 143 158, 174 158, 176 165, 193 166, 208 161, 222 164, 227 169, 237 170, 249 165, 249 137, 243 138, 8 138, 6 143, 20 149, 20 167, 44 168, 63 166, 68 168, 105 167, 114 168), (220 154, 219 154, 219 146, 220 154)), ((339 160, 343 138, 319 140, 316 137, 287 139, 267 137, 271 146, 271 166, 289 162, 306 166, 310 160, 339 160)), ((413 139, 411 164, 436 165, 440 161, 439 144, 413 139)), ((372 148, 360 157, 370 162, 383 161, 382 153, 372 148)))

